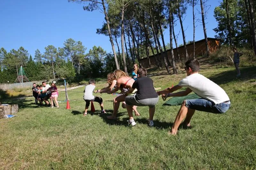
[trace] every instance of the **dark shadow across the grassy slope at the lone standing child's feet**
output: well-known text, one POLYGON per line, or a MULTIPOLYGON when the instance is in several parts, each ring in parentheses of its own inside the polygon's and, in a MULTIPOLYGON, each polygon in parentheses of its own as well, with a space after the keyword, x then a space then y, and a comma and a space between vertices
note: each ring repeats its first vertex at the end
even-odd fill
POLYGON ((240 68, 241 78, 236 78, 236 70, 224 71, 222 73, 216 74, 209 77, 214 83, 221 85, 226 84, 231 81, 249 80, 256 77, 256 67, 242 67, 240 68))

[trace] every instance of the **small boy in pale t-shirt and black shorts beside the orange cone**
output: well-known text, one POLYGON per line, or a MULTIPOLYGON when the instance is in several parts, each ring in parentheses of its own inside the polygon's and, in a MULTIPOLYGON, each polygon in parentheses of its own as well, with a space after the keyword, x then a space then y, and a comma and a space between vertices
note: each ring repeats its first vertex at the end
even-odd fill
POLYGON ((95 89, 95 80, 91 79, 91 80, 89 80, 88 83, 89 83, 89 85, 86 85, 85 89, 84 89, 84 101, 86 102, 84 115, 87 115, 87 110, 90 106, 91 101, 98 102, 100 104, 101 113, 105 114, 106 111, 103 109, 103 100, 102 100, 102 98, 95 97, 95 96, 92 95, 92 93, 95 89))

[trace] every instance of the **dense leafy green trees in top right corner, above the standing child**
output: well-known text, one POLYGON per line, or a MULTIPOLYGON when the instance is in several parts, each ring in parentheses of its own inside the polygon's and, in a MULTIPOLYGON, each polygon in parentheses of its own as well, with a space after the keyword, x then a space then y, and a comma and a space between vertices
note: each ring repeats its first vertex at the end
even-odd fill
POLYGON ((229 46, 248 47, 256 54, 255 0, 223 0, 214 9, 218 26, 213 30, 229 46))

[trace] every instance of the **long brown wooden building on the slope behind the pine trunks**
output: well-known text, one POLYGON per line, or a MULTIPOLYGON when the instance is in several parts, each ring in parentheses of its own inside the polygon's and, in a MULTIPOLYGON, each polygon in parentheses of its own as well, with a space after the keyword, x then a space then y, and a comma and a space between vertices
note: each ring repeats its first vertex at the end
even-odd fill
MULTIPOLYGON (((216 39, 216 38, 207 38, 208 40, 208 47, 210 50, 210 53, 213 53, 215 51, 218 50, 219 45, 220 45, 220 39, 216 39)), ((187 51, 188 51, 188 58, 192 58, 193 57, 193 42, 189 43, 186 45, 187 46, 187 51)), ((185 55, 185 50, 184 50, 184 46, 181 46, 178 48, 179 50, 179 54, 180 54, 180 60, 186 60, 186 55, 185 55)), ((170 61, 172 61, 172 56, 171 56, 171 50, 168 49, 167 51, 167 55, 168 58, 170 59, 170 61)), ((202 56, 205 54, 206 51, 206 47, 205 47, 205 40, 199 40, 199 41, 195 41, 195 56, 202 56)), ((178 55, 177 55, 177 48, 173 48, 173 53, 174 53, 174 58, 175 61, 178 61, 178 55)), ((163 58, 161 57, 161 54, 156 54, 149 56, 149 58, 142 58, 140 59, 140 63, 144 68, 148 68, 148 60, 151 63, 151 66, 156 66, 156 59, 155 57, 160 60, 162 62, 162 64, 164 65, 164 61, 163 58)))

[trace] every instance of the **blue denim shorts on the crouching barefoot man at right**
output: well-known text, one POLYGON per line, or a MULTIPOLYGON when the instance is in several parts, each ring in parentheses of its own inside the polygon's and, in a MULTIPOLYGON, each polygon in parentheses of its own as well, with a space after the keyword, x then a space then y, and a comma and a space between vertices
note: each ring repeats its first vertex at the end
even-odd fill
POLYGON ((200 99, 189 99, 186 100, 186 107, 194 110, 210 113, 225 113, 230 107, 230 101, 215 104, 214 102, 200 98, 200 99))

